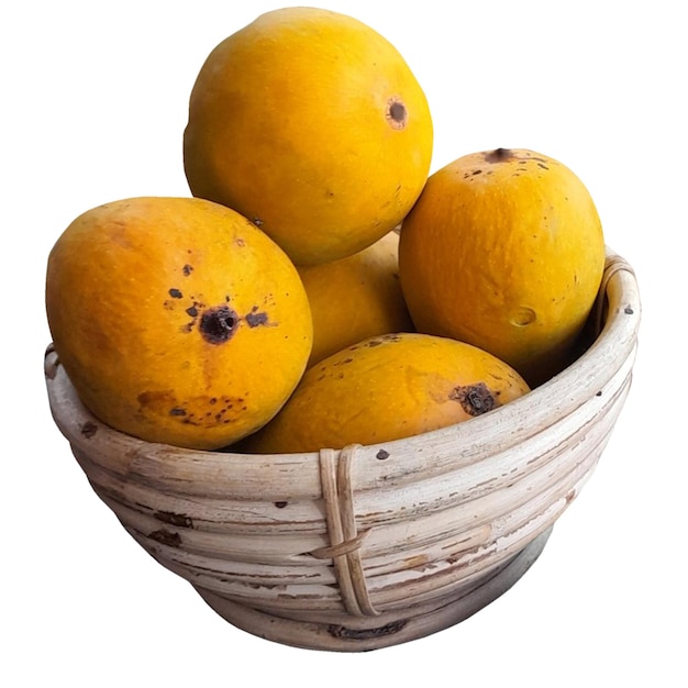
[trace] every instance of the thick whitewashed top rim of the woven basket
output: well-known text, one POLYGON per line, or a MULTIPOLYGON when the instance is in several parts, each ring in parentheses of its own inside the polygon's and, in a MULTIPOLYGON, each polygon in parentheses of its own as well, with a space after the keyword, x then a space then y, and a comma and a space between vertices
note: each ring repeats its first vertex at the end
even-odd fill
MULTIPOLYGON (((629 362, 632 366, 641 321, 635 274, 609 247, 598 299, 598 306, 601 308, 602 304, 607 308, 607 318, 589 348, 528 395, 463 423, 390 442, 353 445, 358 463, 366 466, 365 470, 357 471, 357 489, 436 477, 456 470, 460 464, 489 460, 496 453, 537 434, 598 395, 629 362), (460 452, 456 451, 457 447, 460 452), (393 465, 380 460, 380 452, 395 455, 393 465), (458 463, 457 454, 462 454, 458 463), (425 460, 429 455, 433 456, 432 463, 425 460)), ((293 477, 289 485, 280 488, 285 496, 291 498, 296 493, 298 498, 314 498, 321 495, 321 457, 323 452, 333 452, 331 448, 265 455, 148 443, 96 419, 78 399, 51 346, 44 366, 53 418, 80 460, 91 460, 93 453, 98 452, 100 467, 125 477, 138 476, 158 489, 165 485, 173 492, 195 492, 189 485, 189 475, 204 474, 207 480, 202 480, 203 487, 197 493, 208 495, 208 485, 214 484, 219 493, 232 493, 236 499, 265 498, 270 484, 279 482, 280 474, 288 470, 293 477), (98 433, 85 432, 85 428, 96 428, 98 433)), ((346 448, 334 453, 341 454, 346 448)))

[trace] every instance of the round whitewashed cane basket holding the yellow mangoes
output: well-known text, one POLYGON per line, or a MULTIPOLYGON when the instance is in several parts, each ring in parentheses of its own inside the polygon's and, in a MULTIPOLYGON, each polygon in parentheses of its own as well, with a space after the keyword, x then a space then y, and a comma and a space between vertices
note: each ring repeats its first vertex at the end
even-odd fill
POLYGON ((592 344, 486 415, 407 440, 253 455, 149 444, 79 401, 55 352, 55 422, 99 497, 224 619, 300 647, 364 651, 475 613, 535 561, 631 384, 641 307, 608 252, 592 344))

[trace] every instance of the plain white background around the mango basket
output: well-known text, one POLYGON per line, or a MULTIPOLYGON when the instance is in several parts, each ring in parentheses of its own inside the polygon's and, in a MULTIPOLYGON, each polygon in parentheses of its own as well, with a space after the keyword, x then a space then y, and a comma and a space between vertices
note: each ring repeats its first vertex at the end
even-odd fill
POLYGON ((534 567, 457 626, 342 655, 224 622, 130 539, 51 419, 45 263, 93 206, 188 196, 181 133, 196 74, 217 43, 280 4, 5 3, 0 683, 686 686, 680 4, 320 5, 367 22, 404 55, 434 115, 433 170, 466 153, 529 147, 586 182, 608 244, 635 267, 644 306, 634 385, 612 440, 534 567))

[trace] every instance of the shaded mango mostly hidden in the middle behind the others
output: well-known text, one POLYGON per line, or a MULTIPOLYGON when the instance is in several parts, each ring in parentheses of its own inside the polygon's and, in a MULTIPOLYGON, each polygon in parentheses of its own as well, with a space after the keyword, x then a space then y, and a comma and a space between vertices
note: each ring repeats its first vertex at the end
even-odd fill
POLYGON ((392 231, 353 256, 298 268, 313 315, 309 366, 369 336, 413 330, 398 247, 392 231))

